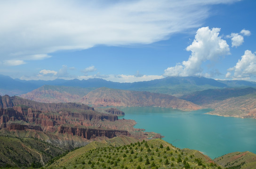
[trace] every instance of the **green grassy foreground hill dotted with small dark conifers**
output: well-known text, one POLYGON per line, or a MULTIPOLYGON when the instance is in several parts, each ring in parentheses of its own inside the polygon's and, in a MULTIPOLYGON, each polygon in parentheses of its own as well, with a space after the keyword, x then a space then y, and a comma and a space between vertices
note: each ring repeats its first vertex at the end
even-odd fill
POLYGON ((199 151, 179 149, 161 140, 123 146, 93 142, 45 166, 48 169, 219 169, 199 151))

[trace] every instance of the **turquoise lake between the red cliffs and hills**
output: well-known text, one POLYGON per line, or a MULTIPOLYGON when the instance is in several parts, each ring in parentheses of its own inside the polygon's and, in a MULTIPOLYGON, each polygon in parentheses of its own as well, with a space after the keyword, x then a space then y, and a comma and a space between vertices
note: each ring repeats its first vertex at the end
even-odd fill
POLYGON ((160 133, 179 148, 199 150, 212 159, 236 151, 256 153, 256 120, 207 115, 210 109, 180 111, 172 108, 119 108, 135 128, 160 133))

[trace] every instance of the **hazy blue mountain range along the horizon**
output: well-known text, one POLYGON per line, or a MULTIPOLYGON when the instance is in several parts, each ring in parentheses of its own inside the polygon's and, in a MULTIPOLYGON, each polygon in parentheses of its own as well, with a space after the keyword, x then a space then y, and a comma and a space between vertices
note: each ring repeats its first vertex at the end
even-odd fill
POLYGON ((8 76, 0 76, 0 94, 20 95, 39 88, 43 85, 73 86, 82 88, 108 87, 112 89, 148 91, 174 95, 180 97, 191 92, 202 91, 206 89, 222 89, 224 87, 256 86, 256 82, 249 81, 221 81, 205 77, 166 77, 144 82, 118 83, 106 81, 100 78, 88 80, 64 80, 56 79, 50 81, 44 80, 20 80, 12 79, 8 76))

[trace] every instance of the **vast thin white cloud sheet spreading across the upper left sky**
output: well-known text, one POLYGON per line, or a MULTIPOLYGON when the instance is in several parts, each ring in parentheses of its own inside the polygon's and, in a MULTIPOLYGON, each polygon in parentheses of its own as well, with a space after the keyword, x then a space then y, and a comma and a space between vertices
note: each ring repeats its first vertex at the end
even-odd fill
POLYGON ((150 44, 200 26, 210 5, 235 1, 1 0, 0 59, 38 60, 58 50, 150 44))

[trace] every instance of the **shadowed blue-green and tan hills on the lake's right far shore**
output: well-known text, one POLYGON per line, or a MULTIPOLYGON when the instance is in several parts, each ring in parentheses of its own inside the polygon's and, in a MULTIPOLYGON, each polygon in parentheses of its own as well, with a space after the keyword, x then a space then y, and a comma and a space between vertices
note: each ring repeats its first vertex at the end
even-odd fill
POLYGON ((211 115, 256 118, 256 89, 208 89, 181 97, 206 108, 213 108, 211 115))

